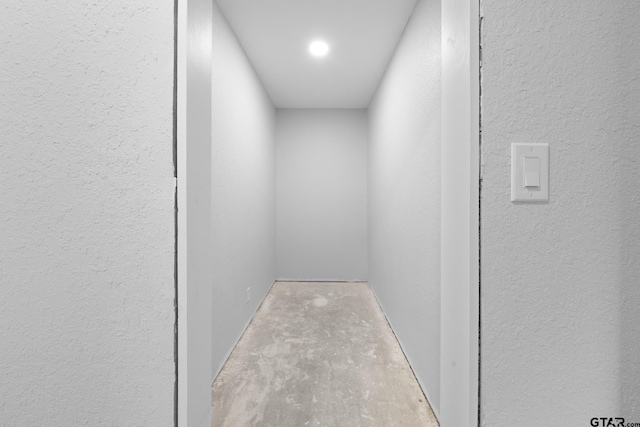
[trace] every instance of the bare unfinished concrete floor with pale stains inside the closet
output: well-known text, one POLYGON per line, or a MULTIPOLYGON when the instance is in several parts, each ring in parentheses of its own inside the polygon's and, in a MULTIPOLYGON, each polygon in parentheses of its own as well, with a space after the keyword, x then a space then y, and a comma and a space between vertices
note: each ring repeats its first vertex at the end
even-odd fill
POLYGON ((432 427, 367 283, 276 282, 212 388, 213 427, 432 427))

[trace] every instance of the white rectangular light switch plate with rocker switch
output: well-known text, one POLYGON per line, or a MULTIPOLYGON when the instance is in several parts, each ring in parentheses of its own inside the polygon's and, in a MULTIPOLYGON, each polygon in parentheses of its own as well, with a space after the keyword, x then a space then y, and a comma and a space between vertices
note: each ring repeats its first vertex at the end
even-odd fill
POLYGON ((549 144, 511 144, 511 201, 549 201, 549 144))

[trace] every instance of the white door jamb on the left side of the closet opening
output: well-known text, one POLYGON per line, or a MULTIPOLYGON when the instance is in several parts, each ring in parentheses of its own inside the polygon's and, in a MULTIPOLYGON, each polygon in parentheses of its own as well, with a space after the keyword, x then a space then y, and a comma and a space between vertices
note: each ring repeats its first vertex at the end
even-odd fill
POLYGON ((212 0, 176 0, 177 425, 211 425, 212 0))

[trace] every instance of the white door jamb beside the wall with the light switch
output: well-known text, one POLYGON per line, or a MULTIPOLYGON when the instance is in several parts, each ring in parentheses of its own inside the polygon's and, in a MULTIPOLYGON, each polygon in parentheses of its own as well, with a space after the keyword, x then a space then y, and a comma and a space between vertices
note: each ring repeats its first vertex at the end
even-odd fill
POLYGON ((479 0, 442 1, 442 427, 479 423, 479 0))

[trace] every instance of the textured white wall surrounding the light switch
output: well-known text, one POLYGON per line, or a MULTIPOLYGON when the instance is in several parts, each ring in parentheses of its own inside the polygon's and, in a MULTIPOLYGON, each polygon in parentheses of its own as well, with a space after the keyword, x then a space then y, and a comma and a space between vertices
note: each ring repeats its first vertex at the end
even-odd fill
POLYGON ((640 420, 640 8, 488 1, 482 425, 640 420), (510 144, 550 145, 550 201, 509 200, 510 144))

